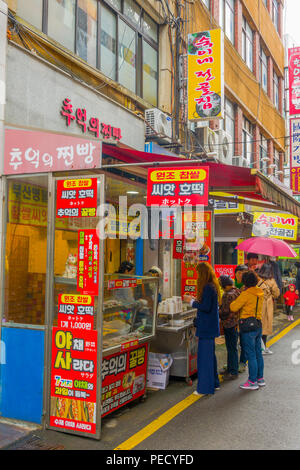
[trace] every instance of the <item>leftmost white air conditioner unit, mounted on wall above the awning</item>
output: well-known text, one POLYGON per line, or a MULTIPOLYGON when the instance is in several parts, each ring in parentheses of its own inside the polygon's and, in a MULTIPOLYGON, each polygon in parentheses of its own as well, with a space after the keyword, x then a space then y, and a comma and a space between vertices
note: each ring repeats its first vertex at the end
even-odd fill
POLYGON ((170 142, 172 140, 172 118, 160 109, 153 108, 145 111, 145 135, 151 139, 170 142))

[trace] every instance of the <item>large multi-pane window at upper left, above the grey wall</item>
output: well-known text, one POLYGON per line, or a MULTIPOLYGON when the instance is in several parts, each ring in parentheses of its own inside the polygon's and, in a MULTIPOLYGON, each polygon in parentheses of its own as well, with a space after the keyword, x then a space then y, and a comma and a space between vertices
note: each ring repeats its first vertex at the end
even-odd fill
POLYGON ((158 25, 134 0, 19 0, 17 13, 157 106, 158 25))

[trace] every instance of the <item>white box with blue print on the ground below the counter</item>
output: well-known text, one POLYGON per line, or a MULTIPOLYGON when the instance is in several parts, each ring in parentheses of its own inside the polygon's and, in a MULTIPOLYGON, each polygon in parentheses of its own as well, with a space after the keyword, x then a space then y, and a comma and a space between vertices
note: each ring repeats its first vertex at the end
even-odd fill
POLYGON ((164 390, 169 383, 171 354, 149 353, 147 387, 164 390))

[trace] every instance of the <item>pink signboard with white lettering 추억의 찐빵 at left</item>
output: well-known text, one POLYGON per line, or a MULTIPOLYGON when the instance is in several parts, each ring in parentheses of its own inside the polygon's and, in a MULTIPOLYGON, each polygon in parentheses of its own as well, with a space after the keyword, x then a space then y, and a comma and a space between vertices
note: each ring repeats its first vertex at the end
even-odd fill
POLYGON ((101 142, 49 132, 5 129, 4 174, 99 168, 101 142))

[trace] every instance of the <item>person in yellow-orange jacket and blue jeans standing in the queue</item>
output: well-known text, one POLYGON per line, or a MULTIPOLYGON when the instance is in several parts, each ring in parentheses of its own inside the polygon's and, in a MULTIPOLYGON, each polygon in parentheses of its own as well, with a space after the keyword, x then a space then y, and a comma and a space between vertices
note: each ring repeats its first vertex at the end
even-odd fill
MULTIPOLYGON (((253 271, 248 271, 242 277, 245 289, 239 297, 230 304, 232 312, 240 311, 240 320, 247 319, 252 323, 249 331, 243 331, 240 325, 242 347, 248 360, 249 378, 240 385, 244 390, 258 390, 266 385, 264 380, 264 359, 261 351, 262 340, 262 306, 264 292, 257 287, 258 277, 253 271), (257 321, 256 321, 256 320, 257 321)), ((244 327, 245 328, 245 327, 244 327)))

